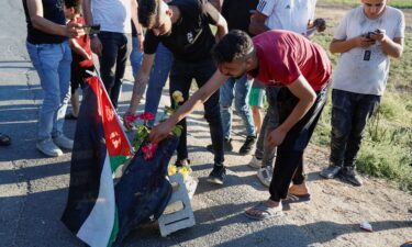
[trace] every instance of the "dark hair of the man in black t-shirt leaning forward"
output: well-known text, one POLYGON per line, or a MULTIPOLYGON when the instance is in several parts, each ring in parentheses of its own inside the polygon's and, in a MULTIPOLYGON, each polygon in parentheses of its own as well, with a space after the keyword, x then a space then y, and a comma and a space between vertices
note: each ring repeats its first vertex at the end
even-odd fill
POLYGON ((147 29, 156 24, 157 16, 163 0, 140 0, 138 1, 138 22, 147 29))

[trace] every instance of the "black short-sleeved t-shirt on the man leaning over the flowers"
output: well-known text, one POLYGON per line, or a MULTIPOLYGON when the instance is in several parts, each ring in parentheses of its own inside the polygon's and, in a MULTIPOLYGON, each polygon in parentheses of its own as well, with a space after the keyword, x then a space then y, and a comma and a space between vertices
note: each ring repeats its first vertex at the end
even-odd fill
POLYGON ((169 35, 156 36, 147 31, 145 54, 156 53, 158 43, 162 42, 174 54, 175 59, 199 61, 211 58, 215 40, 209 24, 218 23, 219 11, 207 0, 174 0, 168 4, 179 9, 180 19, 171 25, 169 35))

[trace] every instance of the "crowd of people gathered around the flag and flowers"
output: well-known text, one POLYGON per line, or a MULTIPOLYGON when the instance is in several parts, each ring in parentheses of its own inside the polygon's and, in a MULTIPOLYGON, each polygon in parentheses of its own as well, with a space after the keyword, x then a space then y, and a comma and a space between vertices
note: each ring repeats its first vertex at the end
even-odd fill
MULTIPOLYGON (((354 186, 363 180, 356 157, 366 124, 379 105, 390 58, 402 55, 403 13, 387 0, 360 0, 337 26, 330 44, 341 54, 332 72, 326 52, 311 37, 326 29, 315 19, 316 0, 23 0, 26 47, 44 91, 36 147, 60 156, 73 141, 63 133, 65 119, 76 120, 77 90, 86 87, 99 57, 100 76, 118 109, 130 58, 134 87, 123 115, 135 114, 145 94, 145 112, 158 111, 163 88, 182 92, 185 101, 166 122, 153 127, 160 142, 182 126, 176 166, 190 166, 187 123, 197 104, 204 105, 214 155, 208 180, 223 184, 225 151, 232 151, 233 110, 246 137, 240 155, 253 153, 250 167, 268 187, 269 198, 245 211, 265 220, 282 210, 281 201, 309 201, 303 154, 332 91, 330 166, 325 179, 339 177, 354 186), (100 25, 100 32, 89 32, 100 25), (212 32, 214 25, 216 32, 212 32), (190 97, 192 80, 198 90, 190 97), (69 90, 71 86, 71 90, 69 90), (261 110, 267 99, 267 109, 261 110), (73 111, 66 113, 71 97, 73 111), (232 105, 235 105, 233 109, 232 105), (263 120, 261 120, 263 119, 263 120)), ((171 102, 174 102, 171 100, 171 102)), ((10 137, 1 134, 1 145, 10 137)))

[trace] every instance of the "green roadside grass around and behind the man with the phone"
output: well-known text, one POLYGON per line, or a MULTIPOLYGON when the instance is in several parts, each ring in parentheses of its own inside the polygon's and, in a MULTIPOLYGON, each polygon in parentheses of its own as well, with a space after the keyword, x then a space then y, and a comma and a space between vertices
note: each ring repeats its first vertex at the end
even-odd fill
MULTIPOLYGON (((319 2, 356 2, 354 0, 322 0, 319 2)), ((396 1, 392 2, 404 2, 396 1)), ((412 1, 408 0, 412 5, 412 1)), ((337 23, 330 23, 335 26, 337 23)), ((326 50, 333 29, 318 34, 314 41, 326 50)), ((357 168, 367 176, 385 178, 399 188, 412 191, 412 34, 405 34, 403 56, 392 59, 387 90, 377 114, 370 120, 358 155, 357 168)), ((337 56, 329 53, 333 65, 337 56)), ((331 134, 331 101, 313 134, 312 143, 329 147, 331 134)))

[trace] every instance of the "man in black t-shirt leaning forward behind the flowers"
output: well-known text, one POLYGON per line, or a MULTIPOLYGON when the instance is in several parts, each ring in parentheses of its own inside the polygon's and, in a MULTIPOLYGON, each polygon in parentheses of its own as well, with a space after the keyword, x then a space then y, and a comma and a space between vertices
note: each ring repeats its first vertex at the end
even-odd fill
MULTIPOLYGON (((174 0, 168 4, 162 0, 140 1, 138 20, 148 31, 145 36, 142 67, 136 76, 131 105, 125 115, 134 114, 137 109, 159 42, 172 53, 175 58, 169 79, 170 96, 178 90, 187 100, 192 79, 196 79, 198 87, 201 88, 216 70, 211 55, 215 37, 209 24, 218 27, 218 38, 227 33, 225 20, 207 0, 174 0)), ((226 171, 223 166, 223 128, 219 91, 204 102, 204 117, 210 126, 214 150, 214 167, 209 181, 222 184, 226 171)), ((127 121, 125 125, 129 127, 127 121)), ((181 120, 179 125, 183 130, 177 148, 176 164, 182 166, 189 164, 186 119, 181 120)))

